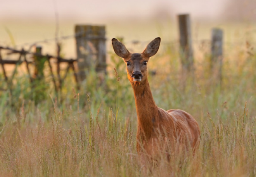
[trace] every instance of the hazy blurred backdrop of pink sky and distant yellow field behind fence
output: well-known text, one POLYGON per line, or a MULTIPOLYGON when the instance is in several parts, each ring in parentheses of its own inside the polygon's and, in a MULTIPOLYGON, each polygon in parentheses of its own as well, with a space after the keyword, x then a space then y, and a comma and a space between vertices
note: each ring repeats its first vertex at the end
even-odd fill
MULTIPOLYGON (((210 29, 221 27, 224 40, 234 42, 234 37, 245 37, 248 28, 255 29, 256 1, 9 0, 0 6, 0 44, 26 48, 34 41, 54 38, 56 33, 58 37, 74 35, 75 24, 105 25, 108 40, 124 37, 126 42, 149 41, 161 36, 163 41, 175 41, 176 15, 182 13, 190 14, 193 39, 210 39, 210 29)), ((55 53, 52 42, 41 44, 43 52, 55 53)), ((74 39, 62 44, 65 56, 75 57, 74 39)))

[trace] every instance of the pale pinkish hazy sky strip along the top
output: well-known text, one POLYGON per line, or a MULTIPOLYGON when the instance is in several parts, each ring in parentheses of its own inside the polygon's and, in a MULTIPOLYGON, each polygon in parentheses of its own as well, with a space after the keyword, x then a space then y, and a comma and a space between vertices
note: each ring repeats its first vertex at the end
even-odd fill
POLYGON ((150 18, 161 14, 190 13, 195 18, 219 17, 228 0, 6 0, 0 19, 106 19, 150 18))

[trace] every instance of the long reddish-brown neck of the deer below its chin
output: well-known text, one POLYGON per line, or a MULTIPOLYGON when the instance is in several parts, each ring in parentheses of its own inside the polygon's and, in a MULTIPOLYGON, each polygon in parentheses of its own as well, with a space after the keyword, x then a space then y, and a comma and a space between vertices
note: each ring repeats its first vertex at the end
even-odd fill
POLYGON ((144 136, 150 138, 154 123, 158 119, 158 108, 153 99, 149 82, 146 79, 144 82, 132 82, 131 84, 135 97, 138 126, 144 136))

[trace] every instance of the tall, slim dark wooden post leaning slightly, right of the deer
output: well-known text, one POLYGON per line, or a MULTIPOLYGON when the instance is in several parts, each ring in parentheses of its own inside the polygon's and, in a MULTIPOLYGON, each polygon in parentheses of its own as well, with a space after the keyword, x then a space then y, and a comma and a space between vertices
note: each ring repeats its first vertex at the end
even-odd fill
POLYGON ((193 68, 194 58, 192 49, 192 34, 189 14, 178 15, 180 31, 180 57, 182 66, 190 71, 193 68))

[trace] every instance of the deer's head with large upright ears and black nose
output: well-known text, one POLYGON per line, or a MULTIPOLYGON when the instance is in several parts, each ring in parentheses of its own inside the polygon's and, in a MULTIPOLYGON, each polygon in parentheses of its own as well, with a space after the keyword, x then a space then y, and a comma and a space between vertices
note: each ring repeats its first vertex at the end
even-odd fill
POLYGON ((112 39, 115 53, 123 58, 130 82, 143 82, 147 78, 147 62, 157 53, 160 45, 160 37, 151 41, 142 53, 130 53, 124 44, 117 39, 112 39))

